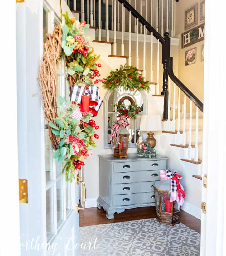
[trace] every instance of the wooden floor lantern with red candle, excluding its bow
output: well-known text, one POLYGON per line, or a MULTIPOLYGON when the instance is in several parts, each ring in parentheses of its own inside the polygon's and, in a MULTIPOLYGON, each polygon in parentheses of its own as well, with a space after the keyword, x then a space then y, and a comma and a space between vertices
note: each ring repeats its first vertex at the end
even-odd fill
POLYGON ((177 202, 170 202, 170 182, 169 180, 157 181, 154 185, 156 219, 160 224, 174 226, 179 224, 180 208, 177 202))

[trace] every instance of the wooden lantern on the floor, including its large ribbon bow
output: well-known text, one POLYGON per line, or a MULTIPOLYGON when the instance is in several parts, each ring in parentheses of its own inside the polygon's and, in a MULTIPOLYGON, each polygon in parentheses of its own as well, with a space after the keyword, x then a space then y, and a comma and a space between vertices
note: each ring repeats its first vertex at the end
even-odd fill
POLYGON ((183 187, 179 183, 181 176, 177 172, 172 173, 171 171, 160 171, 160 178, 163 176, 161 175, 161 172, 163 172, 167 178, 157 181, 154 185, 156 219, 160 224, 174 226, 175 224, 180 223, 180 207, 184 202, 183 187), (180 177, 176 175, 179 175, 180 177), (172 185, 171 183, 175 183, 176 185, 172 185))

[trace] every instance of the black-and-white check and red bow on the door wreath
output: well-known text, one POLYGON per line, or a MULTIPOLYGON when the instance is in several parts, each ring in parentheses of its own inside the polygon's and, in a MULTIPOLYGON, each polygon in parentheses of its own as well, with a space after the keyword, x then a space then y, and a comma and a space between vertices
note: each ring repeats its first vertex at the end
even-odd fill
POLYGON ((103 103, 99 96, 99 88, 95 85, 82 87, 73 85, 71 89, 71 101, 79 104, 81 112, 90 112, 97 116, 98 111, 103 103))

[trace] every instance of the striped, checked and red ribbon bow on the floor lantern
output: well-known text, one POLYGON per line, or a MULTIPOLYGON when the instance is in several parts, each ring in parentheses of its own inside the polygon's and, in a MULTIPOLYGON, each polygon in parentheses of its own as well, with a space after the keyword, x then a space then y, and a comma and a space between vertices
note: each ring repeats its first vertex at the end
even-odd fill
POLYGON ((177 201, 178 207, 184 203, 185 192, 183 186, 180 184, 179 180, 181 179, 180 173, 177 171, 170 170, 161 170, 160 171, 160 180, 170 180, 171 185, 171 195, 170 202, 177 201))

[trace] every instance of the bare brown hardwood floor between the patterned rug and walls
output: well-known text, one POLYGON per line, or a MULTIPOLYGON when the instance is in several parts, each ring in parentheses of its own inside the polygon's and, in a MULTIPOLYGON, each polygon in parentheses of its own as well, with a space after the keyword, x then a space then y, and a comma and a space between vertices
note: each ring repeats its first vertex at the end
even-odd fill
MULTIPOLYGON (((79 212, 79 224, 80 227, 92 226, 99 224, 107 224, 113 222, 129 221, 136 219, 148 219, 155 218, 156 211, 155 207, 140 207, 134 209, 125 210, 123 213, 114 214, 114 219, 107 219, 106 213, 101 208, 100 210, 97 207, 86 208, 79 212)), ((196 232, 200 233, 201 221, 200 219, 195 218, 194 216, 180 211, 180 222, 186 226, 194 229, 196 232)))

